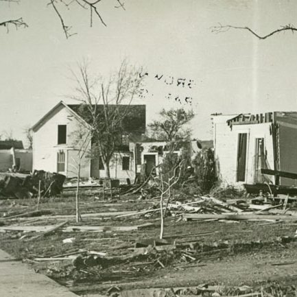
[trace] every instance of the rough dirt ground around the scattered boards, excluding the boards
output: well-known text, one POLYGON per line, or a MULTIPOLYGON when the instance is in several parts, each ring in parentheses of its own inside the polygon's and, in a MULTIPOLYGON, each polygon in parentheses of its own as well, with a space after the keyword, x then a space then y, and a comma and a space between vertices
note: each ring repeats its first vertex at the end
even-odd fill
MULTIPOLYGON (((73 193, 40 202, 39 209, 51 215, 10 219, 6 225, 46 226, 60 224, 55 215, 75 213, 73 193)), ((36 199, 0 200, 0 217, 32 211, 36 199)), ((158 200, 137 200, 124 196, 103 201, 95 190, 84 193, 82 213, 142 211, 158 207, 158 200)), ((105 294, 112 285, 126 289, 148 287, 193 287, 204 283, 222 285, 224 294, 238 294, 235 288, 246 285, 257 291, 266 288, 270 296, 296 296, 297 224, 265 221, 185 222, 175 214, 165 219, 165 238, 175 241, 175 250, 143 251, 135 255, 135 243, 156 239, 159 235, 158 212, 131 217, 89 217, 80 226, 151 226, 131 231, 69 232, 57 230, 47 237, 27 240, 38 233, 9 231, 0 233, 0 248, 26 261, 38 273, 58 281, 71 291, 84 294, 105 294), (206 233, 206 234, 198 234, 206 233), (25 237, 23 237, 25 235, 25 237), (185 237, 185 235, 187 235, 185 237), (63 239, 74 237, 72 243, 63 239), (78 268, 73 260, 36 261, 79 249, 106 252, 109 259, 99 265, 78 268), (186 256, 185 256, 186 254, 186 256), (161 262, 161 263, 160 263, 161 262), (278 292, 277 295, 272 294, 278 292), (269 291, 270 290, 270 291, 269 291)), ((0 222, 0 224, 1 224, 0 222)), ((69 224, 75 225, 75 219, 69 224)), ((268 295, 269 296, 269 295, 268 295)))

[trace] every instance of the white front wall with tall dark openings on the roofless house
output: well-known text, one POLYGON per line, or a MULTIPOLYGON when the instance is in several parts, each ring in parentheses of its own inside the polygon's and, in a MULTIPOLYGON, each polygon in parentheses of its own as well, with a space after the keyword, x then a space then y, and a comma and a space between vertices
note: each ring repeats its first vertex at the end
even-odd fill
MULTIPOLYGON (((255 181, 255 154, 256 139, 263 138, 266 152, 266 163, 268 168, 274 168, 274 150, 271 134, 271 123, 233 125, 232 129, 226 121, 234 115, 216 116, 213 119, 214 147, 217 176, 223 185, 241 185, 242 183, 254 184, 255 181), (246 180, 237 182, 237 147, 238 134, 247 133, 246 152, 246 180)), ((267 176, 267 178, 272 178, 267 176)))

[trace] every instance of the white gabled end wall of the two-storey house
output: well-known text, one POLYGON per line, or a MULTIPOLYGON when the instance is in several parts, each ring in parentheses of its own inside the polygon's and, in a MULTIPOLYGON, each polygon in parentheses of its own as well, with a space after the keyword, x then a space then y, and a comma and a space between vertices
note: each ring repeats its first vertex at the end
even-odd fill
MULTIPOLYGON (((60 150, 64 151, 66 161, 75 155, 75 160, 78 161, 78 155, 73 152, 73 148, 77 139, 75 132, 80 129, 85 130, 85 134, 88 134, 87 128, 83 128, 78 119, 66 107, 60 105, 45 120, 43 126, 33 133, 33 169, 56 172, 57 154, 60 150), (58 125, 67 125, 67 144, 58 145, 58 125)), ((87 143, 89 142, 87 141, 87 143)), ((80 143, 76 145, 80 145, 80 143)), ((71 163, 75 162, 71 161, 71 163)), ((66 162, 65 171, 61 174, 69 174, 69 177, 72 177, 74 176, 71 172, 73 168, 70 168, 69 165, 66 162)), ((87 158, 82 159, 81 176, 84 178, 90 176, 90 161, 87 158)))

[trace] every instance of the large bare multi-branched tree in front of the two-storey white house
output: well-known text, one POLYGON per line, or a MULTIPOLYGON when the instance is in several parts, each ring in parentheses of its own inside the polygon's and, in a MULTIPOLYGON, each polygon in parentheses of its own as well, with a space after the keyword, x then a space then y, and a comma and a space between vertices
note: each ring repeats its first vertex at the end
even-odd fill
POLYGON ((79 65, 78 75, 74 72, 73 75, 76 82, 73 98, 80 102, 77 112, 93 128, 91 157, 102 158, 106 178, 110 178, 110 161, 122 143, 126 121, 137 117, 132 114, 130 104, 139 93, 142 78, 126 60, 108 80, 91 78, 86 63, 79 65))

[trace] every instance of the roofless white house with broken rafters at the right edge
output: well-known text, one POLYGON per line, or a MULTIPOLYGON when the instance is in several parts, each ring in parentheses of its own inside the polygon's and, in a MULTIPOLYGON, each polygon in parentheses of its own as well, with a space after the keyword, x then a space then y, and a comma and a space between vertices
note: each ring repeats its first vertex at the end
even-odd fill
POLYGON ((296 186, 297 112, 215 115, 213 133, 223 184, 296 186))

